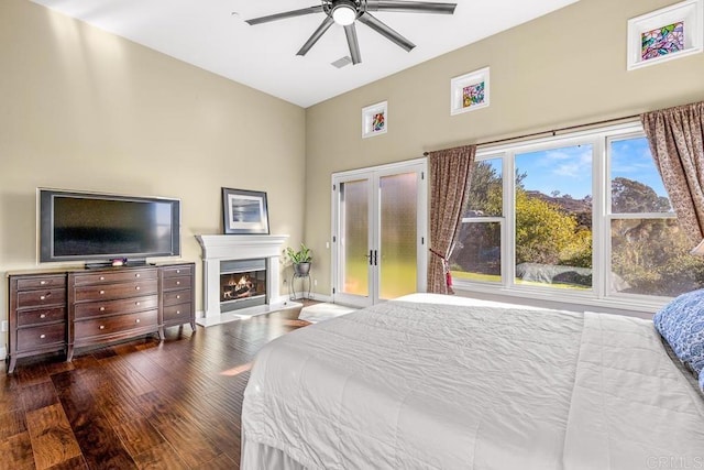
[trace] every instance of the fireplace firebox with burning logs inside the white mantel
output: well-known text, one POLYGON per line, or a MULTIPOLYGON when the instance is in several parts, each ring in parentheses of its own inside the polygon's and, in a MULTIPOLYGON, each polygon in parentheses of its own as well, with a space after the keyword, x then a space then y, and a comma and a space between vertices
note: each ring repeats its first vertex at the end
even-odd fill
POLYGON ((266 305, 266 259, 220 261, 220 311, 266 305))

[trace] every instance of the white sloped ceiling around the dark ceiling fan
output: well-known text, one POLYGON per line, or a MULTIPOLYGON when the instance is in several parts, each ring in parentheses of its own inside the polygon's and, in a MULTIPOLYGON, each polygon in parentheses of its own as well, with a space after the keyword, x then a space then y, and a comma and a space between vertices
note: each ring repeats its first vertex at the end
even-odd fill
POLYGON ((296 56, 324 13, 254 26, 244 22, 318 6, 319 0, 33 1, 307 108, 578 0, 455 0, 453 15, 374 12, 416 48, 408 53, 358 23, 362 63, 342 68, 331 65, 349 55, 338 24, 306 56, 296 56))

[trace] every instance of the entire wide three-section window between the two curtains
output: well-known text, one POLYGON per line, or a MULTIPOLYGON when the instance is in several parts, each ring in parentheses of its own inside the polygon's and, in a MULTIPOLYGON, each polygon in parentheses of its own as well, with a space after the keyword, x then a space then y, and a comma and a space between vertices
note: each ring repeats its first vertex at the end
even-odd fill
POLYGON ((656 308, 704 286, 692 248, 634 123, 481 149, 450 263, 460 289, 656 308))

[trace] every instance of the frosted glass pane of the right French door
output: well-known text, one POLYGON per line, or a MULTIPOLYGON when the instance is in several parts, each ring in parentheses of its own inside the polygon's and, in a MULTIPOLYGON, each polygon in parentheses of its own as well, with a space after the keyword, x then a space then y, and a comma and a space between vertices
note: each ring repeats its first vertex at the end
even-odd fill
POLYGON ((416 292, 417 195, 416 173, 380 178, 380 298, 416 292))

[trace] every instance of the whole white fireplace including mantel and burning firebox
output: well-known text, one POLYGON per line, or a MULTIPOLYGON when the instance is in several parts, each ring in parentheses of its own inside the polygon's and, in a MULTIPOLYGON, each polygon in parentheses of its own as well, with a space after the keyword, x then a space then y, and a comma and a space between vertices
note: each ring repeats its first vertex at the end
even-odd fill
POLYGON ((279 256, 288 236, 196 236, 202 248, 202 326, 245 319, 289 306, 279 295, 279 256))

